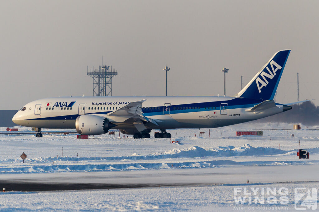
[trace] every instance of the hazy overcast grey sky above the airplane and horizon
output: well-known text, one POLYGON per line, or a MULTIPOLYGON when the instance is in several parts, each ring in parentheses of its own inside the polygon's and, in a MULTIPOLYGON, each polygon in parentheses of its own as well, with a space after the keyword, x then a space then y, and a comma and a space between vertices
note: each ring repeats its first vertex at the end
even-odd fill
POLYGON ((87 66, 118 71, 113 96, 216 96, 241 90, 292 49, 277 102, 319 105, 319 1, 0 0, 0 109, 45 97, 92 96, 87 66))

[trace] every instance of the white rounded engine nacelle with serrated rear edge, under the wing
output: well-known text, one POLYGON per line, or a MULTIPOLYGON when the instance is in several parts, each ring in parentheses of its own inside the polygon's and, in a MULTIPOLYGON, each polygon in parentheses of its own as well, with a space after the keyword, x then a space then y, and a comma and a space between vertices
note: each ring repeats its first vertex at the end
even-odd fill
POLYGON ((100 135, 115 127, 107 118, 97 115, 81 115, 75 121, 75 128, 81 135, 100 135))

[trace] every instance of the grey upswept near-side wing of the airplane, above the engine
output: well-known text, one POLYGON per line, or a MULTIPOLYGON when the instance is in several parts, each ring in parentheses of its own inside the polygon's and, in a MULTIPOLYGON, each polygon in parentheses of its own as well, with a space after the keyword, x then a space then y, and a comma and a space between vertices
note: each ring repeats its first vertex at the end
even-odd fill
MULTIPOLYGON (((158 126, 156 121, 147 118, 142 112, 142 103, 147 99, 139 100, 136 102, 131 102, 111 113, 107 114, 107 118, 114 123, 121 123, 130 118, 134 118, 134 122, 132 123, 139 131, 142 131, 142 128, 145 128, 142 121, 151 122, 158 126)), ((146 129, 146 128, 145 128, 146 129)), ((144 129, 143 129, 144 130, 144 129)))

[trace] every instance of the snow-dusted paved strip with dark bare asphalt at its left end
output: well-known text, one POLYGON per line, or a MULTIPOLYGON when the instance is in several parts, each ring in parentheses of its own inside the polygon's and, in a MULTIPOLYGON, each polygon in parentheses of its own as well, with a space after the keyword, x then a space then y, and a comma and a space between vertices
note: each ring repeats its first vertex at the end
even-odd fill
POLYGON ((6 191, 242 185, 317 181, 319 165, 242 166, 232 168, 169 168, 161 170, 3 174, 6 191), (252 173, 253 170, 253 173, 252 173))

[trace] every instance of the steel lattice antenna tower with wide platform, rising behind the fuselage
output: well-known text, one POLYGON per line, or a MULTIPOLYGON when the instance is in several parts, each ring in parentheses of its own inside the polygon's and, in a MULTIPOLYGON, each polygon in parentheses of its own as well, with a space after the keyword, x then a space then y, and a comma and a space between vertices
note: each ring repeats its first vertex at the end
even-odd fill
POLYGON ((112 66, 100 65, 98 69, 89 71, 87 66, 87 75, 93 79, 93 96, 112 96, 112 78, 117 75, 117 71, 112 66))

